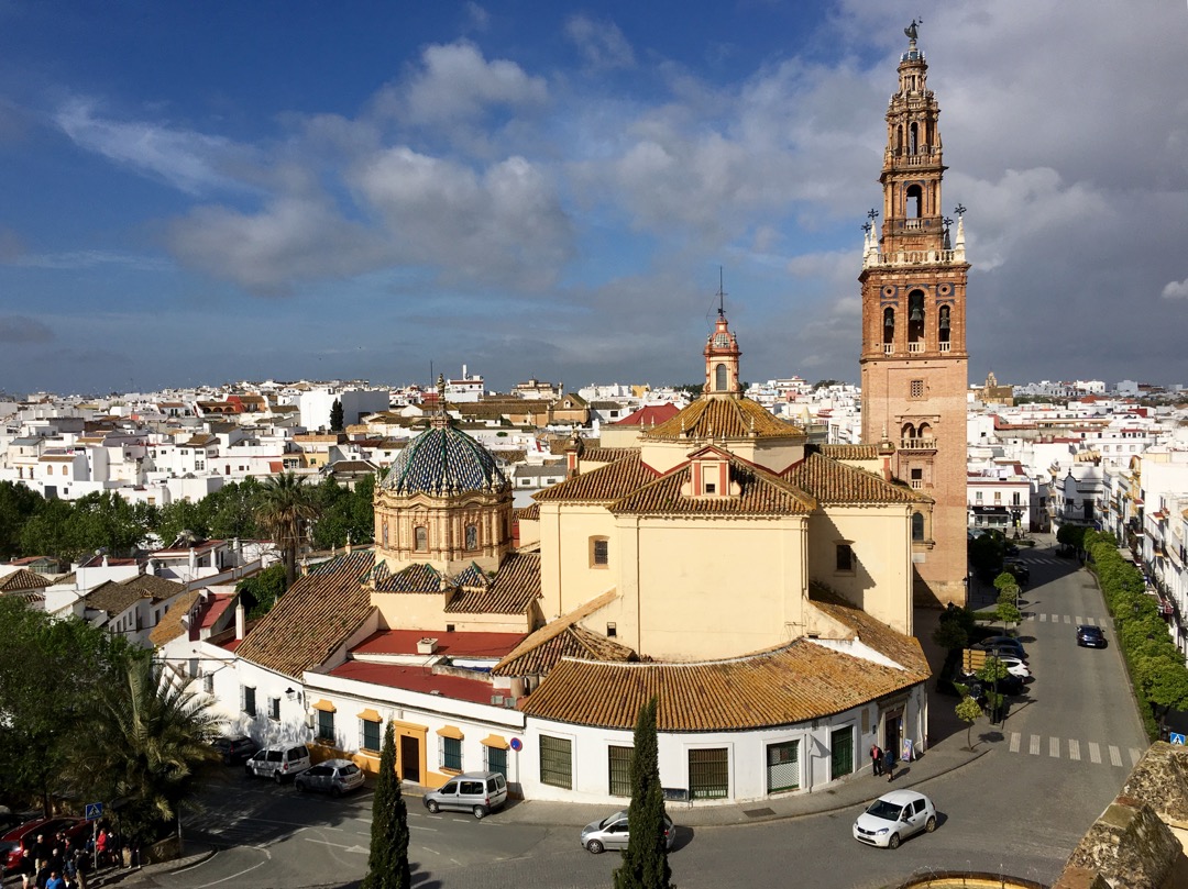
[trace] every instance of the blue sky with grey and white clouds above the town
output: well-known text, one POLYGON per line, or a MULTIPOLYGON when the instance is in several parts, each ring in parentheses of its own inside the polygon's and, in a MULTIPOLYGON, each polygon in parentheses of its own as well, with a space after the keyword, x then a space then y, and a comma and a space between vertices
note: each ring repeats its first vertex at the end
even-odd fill
POLYGON ((914 18, 971 381, 1188 383, 1184 0, 0 0, 0 390, 858 382, 914 18))

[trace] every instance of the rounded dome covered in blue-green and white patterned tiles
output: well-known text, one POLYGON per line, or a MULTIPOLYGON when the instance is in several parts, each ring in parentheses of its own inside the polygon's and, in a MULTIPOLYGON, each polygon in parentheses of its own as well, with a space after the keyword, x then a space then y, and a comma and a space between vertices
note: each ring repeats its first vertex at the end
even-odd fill
POLYGON ((486 447, 461 430, 435 424, 400 451, 383 487, 398 494, 499 491, 511 487, 486 447))

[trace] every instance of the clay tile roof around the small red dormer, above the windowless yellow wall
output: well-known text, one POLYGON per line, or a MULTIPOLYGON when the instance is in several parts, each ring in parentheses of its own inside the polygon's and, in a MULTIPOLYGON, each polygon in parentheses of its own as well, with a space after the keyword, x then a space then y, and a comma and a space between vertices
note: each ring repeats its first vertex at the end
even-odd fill
POLYGON ((729 458, 731 485, 738 496, 694 497, 682 493, 689 483, 690 464, 615 501, 611 512, 631 515, 807 515, 816 502, 777 475, 737 457, 729 458))

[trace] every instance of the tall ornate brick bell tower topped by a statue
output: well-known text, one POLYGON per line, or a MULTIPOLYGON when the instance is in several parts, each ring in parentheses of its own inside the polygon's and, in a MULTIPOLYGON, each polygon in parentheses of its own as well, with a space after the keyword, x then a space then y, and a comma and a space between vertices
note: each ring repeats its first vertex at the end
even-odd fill
POLYGON ((941 210, 940 107, 917 23, 904 30, 899 89, 887 106, 883 227, 871 210, 862 252, 862 440, 934 500, 911 516, 918 604, 966 602, 966 279, 963 207, 955 237, 941 210))

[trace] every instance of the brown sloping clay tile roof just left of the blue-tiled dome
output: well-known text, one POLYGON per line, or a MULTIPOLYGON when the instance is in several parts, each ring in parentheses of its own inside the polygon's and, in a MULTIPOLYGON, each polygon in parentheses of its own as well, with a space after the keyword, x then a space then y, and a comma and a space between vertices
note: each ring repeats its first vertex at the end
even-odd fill
POLYGON ((362 578, 374 558, 369 551, 340 555, 298 578, 235 653, 293 679, 323 663, 372 611, 362 578))

